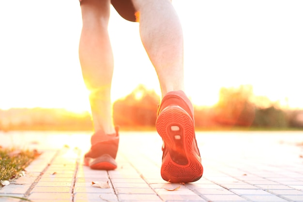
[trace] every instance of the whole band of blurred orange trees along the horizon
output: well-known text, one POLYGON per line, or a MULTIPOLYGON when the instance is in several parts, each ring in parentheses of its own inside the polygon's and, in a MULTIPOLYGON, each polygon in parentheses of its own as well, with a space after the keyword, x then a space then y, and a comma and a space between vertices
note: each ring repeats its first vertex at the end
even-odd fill
MULTIPOLYGON (((160 97, 139 85, 113 104, 113 121, 121 129, 153 128, 160 97)), ((256 97, 253 88, 221 88, 212 107, 194 106, 195 126, 200 129, 255 127, 303 128, 303 111, 281 109, 265 97, 256 97)), ((0 130, 92 130, 89 112, 77 114, 64 109, 0 110, 0 130)))

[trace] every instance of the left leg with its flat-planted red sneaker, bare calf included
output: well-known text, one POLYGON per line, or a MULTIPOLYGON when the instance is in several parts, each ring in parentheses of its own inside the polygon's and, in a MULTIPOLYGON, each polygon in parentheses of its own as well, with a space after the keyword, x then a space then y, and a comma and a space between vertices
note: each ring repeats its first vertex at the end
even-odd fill
POLYGON ((79 44, 82 74, 90 90, 95 133, 84 164, 91 169, 117 168, 118 129, 114 128, 110 100, 113 53, 107 32, 110 0, 81 0, 83 28, 79 44))

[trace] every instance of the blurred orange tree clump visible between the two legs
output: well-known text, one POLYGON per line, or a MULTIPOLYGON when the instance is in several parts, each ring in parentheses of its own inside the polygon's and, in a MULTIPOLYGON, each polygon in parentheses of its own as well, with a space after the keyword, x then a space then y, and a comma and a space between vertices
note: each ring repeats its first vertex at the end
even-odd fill
POLYGON ((132 93, 113 105, 113 119, 121 126, 154 126, 159 96, 139 85, 132 93))

